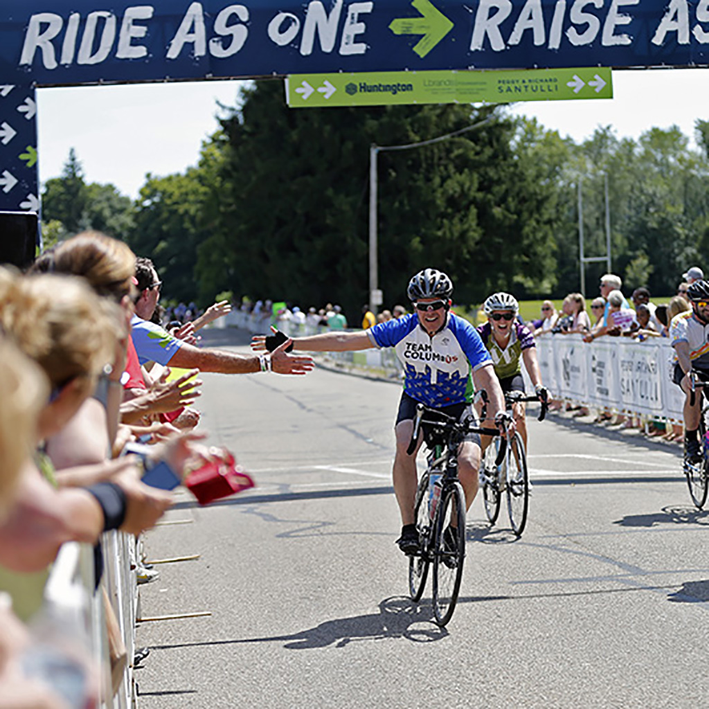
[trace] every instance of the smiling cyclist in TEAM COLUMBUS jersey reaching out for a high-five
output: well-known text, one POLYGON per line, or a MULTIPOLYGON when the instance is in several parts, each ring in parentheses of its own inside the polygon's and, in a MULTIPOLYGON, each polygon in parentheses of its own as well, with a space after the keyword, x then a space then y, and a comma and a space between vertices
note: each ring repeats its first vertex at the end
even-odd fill
MULTIPOLYGON (((445 273, 427 268, 415 274, 408 284, 413 314, 387 320, 369 330, 293 338, 296 350, 309 352, 393 347, 403 364, 406 379, 394 428, 396 456, 392 476, 402 523, 397 543, 405 554, 413 554, 418 549, 413 518, 418 447, 411 455, 406 452, 417 404, 423 403, 460 419, 474 415, 473 391, 484 389, 489 398, 491 420, 501 430, 505 430, 508 423, 492 359, 475 328, 450 312, 452 293, 451 279, 445 273)), ((257 335, 252 346, 257 350, 266 347, 265 339, 257 335)), ((469 434, 458 453, 458 474, 468 507, 478 491, 480 456, 480 437, 469 434)))

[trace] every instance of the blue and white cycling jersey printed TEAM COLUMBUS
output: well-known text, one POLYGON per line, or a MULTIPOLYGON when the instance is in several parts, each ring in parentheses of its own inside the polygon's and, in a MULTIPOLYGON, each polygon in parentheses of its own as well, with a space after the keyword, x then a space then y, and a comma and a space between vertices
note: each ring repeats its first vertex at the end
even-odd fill
POLYGON ((471 373, 492 364, 475 328, 453 313, 433 337, 421 327, 415 313, 374 325, 367 335, 376 347, 395 348, 406 373, 404 391, 434 408, 470 403, 471 373))

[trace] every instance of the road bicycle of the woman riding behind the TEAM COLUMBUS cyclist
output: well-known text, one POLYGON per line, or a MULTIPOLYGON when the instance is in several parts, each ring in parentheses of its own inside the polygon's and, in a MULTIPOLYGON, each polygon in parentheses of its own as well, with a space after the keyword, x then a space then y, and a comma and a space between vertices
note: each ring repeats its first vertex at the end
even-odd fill
MULTIPOLYGON (((547 415, 549 403, 546 398, 525 396, 522 391, 508 391, 505 394, 505 406, 508 415, 512 416, 512 407, 523 401, 539 401, 542 404, 539 420, 547 415)), ((480 472, 480 486, 483 491, 485 514, 491 525, 495 524, 500 514, 500 503, 503 493, 507 493, 507 514, 510 525, 518 537, 522 535, 527 524, 529 511, 530 482, 527 470, 527 454, 522 436, 519 432, 508 441, 506 452, 501 455, 498 438, 490 442, 483 456, 480 472)))

